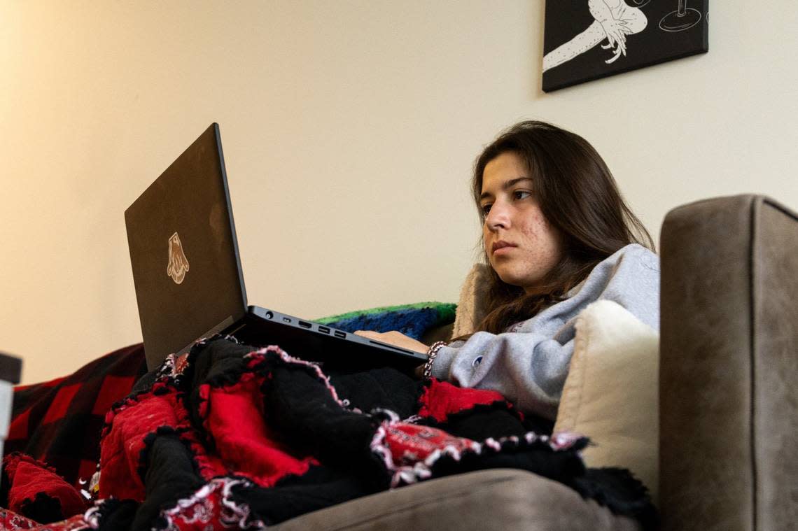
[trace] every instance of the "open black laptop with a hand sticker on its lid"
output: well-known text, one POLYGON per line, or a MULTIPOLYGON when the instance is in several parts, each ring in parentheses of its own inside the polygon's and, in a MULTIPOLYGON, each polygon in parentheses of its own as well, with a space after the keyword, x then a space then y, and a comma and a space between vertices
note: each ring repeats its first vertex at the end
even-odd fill
POLYGON ((216 333, 276 344, 336 370, 412 372, 426 360, 420 352, 247 305, 218 124, 124 211, 124 221, 149 370, 216 333))

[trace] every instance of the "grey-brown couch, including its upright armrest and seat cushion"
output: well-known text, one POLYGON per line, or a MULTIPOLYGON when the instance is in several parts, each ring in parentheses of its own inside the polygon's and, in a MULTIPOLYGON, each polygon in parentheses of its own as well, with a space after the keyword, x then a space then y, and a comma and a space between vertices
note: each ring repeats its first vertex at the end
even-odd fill
MULTIPOLYGON (((798 217, 753 195, 691 203, 667 215, 661 258, 662 529, 795 529, 798 217)), ((276 529, 638 525, 557 482, 487 470, 349 501, 276 529)))

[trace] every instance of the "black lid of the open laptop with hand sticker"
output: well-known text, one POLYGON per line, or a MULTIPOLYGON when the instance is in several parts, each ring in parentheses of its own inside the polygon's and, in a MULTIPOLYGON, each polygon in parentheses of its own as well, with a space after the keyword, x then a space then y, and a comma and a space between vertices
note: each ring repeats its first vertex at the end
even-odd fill
POLYGON ((247 312, 219 125, 124 211, 148 367, 247 312))

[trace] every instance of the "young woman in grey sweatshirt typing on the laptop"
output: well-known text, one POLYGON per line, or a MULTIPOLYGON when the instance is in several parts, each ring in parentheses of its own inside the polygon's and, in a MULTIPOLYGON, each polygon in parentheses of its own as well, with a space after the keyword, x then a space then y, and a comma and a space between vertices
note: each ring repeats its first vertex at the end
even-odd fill
POLYGON ((555 419, 575 318, 607 299, 659 328, 659 260, 599 156, 551 124, 516 124, 476 159, 474 200, 490 266, 476 332, 431 348, 399 332, 358 332, 428 352, 425 376, 500 391, 555 419))

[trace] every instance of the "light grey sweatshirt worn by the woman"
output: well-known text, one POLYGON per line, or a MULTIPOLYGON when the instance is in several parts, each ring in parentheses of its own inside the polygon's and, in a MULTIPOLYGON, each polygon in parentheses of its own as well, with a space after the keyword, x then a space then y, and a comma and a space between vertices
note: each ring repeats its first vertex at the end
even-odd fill
POLYGON ((432 374, 462 387, 500 391, 520 411, 555 419, 574 353, 576 316, 602 299, 658 330, 658 256, 638 244, 623 247, 595 266, 566 300, 507 332, 476 332, 440 348, 432 374))

